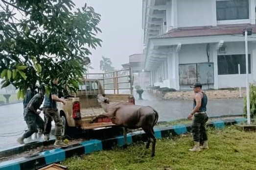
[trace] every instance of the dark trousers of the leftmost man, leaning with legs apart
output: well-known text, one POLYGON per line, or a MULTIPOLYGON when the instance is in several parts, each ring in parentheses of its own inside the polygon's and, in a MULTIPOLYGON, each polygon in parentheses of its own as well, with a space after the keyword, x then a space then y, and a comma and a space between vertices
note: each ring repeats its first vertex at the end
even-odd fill
POLYGON ((37 132, 37 128, 44 130, 44 120, 35 113, 27 113, 25 117, 28 131, 23 134, 23 138, 30 137, 33 133, 37 132))

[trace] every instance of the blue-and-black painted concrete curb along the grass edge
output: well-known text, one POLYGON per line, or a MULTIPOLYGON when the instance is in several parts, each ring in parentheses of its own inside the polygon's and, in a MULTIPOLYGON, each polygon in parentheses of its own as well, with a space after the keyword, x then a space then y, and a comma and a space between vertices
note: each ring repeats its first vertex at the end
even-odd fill
MULTIPOLYGON (((246 118, 226 119, 220 121, 212 121, 207 124, 208 127, 215 129, 224 129, 225 126, 233 125, 239 122, 246 122, 246 118)), ((154 129, 158 139, 164 137, 176 136, 191 131, 191 124, 181 124, 175 126, 154 129)), ((137 141, 147 141, 147 137, 143 131, 131 132, 127 134, 128 144, 137 141)), ((113 146, 122 147, 124 139, 122 135, 104 140, 89 140, 79 144, 71 145, 67 148, 58 148, 54 150, 44 151, 29 157, 23 157, 11 161, 0 163, 0 170, 37 170, 49 164, 64 161, 74 155, 89 154, 94 151, 102 151, 111 149, 113 146)))

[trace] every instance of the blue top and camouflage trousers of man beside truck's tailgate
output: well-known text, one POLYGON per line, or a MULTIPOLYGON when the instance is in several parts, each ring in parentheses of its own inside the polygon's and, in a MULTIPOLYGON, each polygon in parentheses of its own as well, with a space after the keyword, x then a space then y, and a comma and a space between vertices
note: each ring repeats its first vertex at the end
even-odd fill
POLYGON ((51 121, 53 120, 55 122, 55 137, 57 140, 61 140, 61 132, 62 132, 62 119, 60 117, 60 114, 58 113, 57 104, 56 101, 52 100, 51 95, 52 94, 58 94, 57 88, 53 86, 53 89, 49 95, 45 95, 45 102, 44 102, 44 108, 45 108, 45 135, 48 135, 51 130, 51 121))

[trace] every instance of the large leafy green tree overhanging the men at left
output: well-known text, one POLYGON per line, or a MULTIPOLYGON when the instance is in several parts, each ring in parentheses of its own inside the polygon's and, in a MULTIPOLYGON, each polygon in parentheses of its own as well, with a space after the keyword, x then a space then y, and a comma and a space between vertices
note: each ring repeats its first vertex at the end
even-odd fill
POLYGON ((100 15, 71 0, 0 0, 0 77, 2 88, 13 84, 23 96, 36 84, 56 77, 61 88, 78 89, 89 48, 101 45, 96 34, 100 15))

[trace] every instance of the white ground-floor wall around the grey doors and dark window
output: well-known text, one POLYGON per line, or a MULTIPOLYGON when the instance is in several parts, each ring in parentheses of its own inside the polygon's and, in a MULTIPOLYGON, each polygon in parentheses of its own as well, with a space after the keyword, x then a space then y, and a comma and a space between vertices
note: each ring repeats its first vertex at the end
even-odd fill
MULTIPOLYGON (((206 54, 207 44, 191 44, 183 45, 181 51, 179 52, 179 64, 197 63, 197 62, 207 62, 206 54)), ((211 44, 213 45, 213 44, 211 44)), ((215 52, 217 55, 233 55, 233 54, 245 54, 245 43, 244 42, 228 42, 225 43, 227 46, 226 53, 215 52)), ((210 48, 210 62, 213 62, 213 50, 210 48)), ((215 49, 216 50, 216 49, 215 49)), ((248 51, 251 54, 251 68, 252 73, 256 77, 256 68, 254 64, 256 63, 256 43, 248 44, 248 51)), ((215 67, 215 66, 214 66, 215 67)), ((256 66, 255 66, 256 67, 256 66)), ((218 77, 218 88, 230 88, 230 87, 245 87, 245 75, 217 75, 218 77), (241 84, 240 84, 241 81, 241 84)), ((249 81, 253 82, 253 75, 249 75, 249 81)), ((210 87, 212 88, 212 87, 210 87)), ((185 90, 187 87, 180 87, 180 90, 185 90)))

